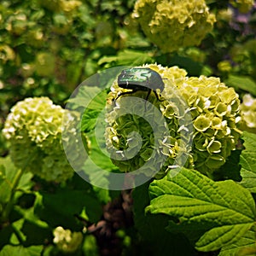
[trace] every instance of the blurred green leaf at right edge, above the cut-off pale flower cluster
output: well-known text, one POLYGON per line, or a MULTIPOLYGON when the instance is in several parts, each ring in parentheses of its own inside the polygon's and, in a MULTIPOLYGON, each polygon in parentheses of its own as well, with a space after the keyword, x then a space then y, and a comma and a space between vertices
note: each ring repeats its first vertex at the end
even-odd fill
POLYGON ((250 77, 230 75, 225 83, 234 87, 236 90, 246 90, 256 96, 256 83, 250 77))

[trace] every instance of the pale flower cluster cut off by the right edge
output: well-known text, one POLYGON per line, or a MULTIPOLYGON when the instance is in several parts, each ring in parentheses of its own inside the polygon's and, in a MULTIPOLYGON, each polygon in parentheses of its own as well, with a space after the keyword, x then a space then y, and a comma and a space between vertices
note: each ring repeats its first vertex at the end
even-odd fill
POLYGON ((242 97, 241 130, 256 133, 256 99, 250 94, 242 97))

